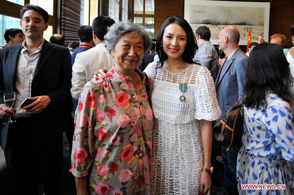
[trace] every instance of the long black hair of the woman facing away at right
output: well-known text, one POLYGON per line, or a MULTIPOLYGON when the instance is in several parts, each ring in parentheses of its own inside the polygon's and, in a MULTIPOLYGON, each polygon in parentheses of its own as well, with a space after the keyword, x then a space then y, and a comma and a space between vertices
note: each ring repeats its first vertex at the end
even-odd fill
POLYGON ((293 86, 293 77, 280 45, 262 43, 255 46, 249 55, 245 80, 246 107, 266 109, 266 98, 270 90, 286 102, 293 101, 289 91, 293 86), (263 105, 263 102, 266 104, 263 105))

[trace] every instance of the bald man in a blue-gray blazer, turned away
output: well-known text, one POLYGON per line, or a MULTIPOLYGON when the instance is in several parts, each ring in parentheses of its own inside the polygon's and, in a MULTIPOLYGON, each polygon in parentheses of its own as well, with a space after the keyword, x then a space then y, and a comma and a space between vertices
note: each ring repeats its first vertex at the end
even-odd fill
MULTIPOLYGON (((227 55, 215 83, 221 115, 236 104, 245 87, 245 69, 248 64, 248 57, 239 48, 239 40, 240 32, 235 26, 222 29, 219 35, 219 48, 227 55)), ((238 152, 234 148, 228 150, 221 148, 224 187, 228 195, 238 195, 236 180, 238 152)))

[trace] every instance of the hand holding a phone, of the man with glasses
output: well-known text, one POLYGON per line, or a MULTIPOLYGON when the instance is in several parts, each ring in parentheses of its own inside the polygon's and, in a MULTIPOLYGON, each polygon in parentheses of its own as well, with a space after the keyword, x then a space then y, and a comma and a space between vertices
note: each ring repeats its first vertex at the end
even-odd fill
POLYGON ((30 100, 33 100, 34 102, 27 105, 25 108, 25 112, 32 112, 34 114, 40 113, 43 111, 51 102, 51 99, 48 95, 42 95, 42 96, 36 96, 28 98, 30 100))

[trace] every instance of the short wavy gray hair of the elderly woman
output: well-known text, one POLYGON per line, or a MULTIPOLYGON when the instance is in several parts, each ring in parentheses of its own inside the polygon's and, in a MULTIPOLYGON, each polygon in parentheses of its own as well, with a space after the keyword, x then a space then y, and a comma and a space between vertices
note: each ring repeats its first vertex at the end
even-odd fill
POLYGON ((108 28, 107 34, 104 36, 105 48, 111 53, 114 50, 116 43, 121 36, 132 33, 139 34, 144 39, 144 55, 147 54, 151 47, 151 36, 141 25, 135 24, 132 21, 117 22, 108 28))

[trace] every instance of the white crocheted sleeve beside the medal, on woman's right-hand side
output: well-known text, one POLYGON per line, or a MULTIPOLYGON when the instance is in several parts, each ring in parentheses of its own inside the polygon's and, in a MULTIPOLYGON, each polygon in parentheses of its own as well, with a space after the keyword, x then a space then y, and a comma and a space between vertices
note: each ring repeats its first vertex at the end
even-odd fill
POLYGON ((213 78, 206 67, 198 70, 195 90, 195 119, 213 121, 221 116, 213 78))

